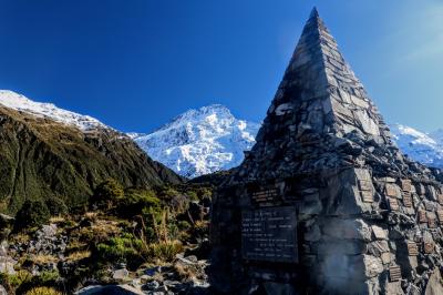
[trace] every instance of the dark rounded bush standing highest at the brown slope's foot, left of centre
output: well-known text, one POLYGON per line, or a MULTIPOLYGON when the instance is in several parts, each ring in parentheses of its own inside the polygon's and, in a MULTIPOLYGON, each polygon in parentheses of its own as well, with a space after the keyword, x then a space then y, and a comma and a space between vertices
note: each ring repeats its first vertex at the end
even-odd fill
POLYGON ((92 204, 110 208, 113 203, 124 196, 123 186, 115 180, 106 180, 99 184, 92 196, 92 204))

